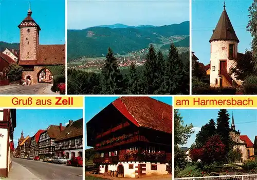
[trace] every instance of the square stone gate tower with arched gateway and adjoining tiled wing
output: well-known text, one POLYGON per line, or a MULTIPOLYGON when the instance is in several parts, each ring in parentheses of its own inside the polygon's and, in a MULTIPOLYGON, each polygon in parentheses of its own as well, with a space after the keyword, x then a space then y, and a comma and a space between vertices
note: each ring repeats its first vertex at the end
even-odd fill
POLYGON ((18 26, 20 28, 19 65, 24 68, 23 79, 25 84, 52 83, 53 76, 47 66, 65 65, 65 44, 40 45, 41 28, 31 14, 29 8, 27 17, 18 26))

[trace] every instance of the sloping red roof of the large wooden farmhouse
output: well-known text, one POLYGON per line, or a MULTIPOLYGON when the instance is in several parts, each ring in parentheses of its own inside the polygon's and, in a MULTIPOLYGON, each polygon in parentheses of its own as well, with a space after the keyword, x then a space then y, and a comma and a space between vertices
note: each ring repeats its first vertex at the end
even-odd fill
POLYGON ((137 127, 172 133, 172 106, 150 97, 120 97, 112 103, 137 127))

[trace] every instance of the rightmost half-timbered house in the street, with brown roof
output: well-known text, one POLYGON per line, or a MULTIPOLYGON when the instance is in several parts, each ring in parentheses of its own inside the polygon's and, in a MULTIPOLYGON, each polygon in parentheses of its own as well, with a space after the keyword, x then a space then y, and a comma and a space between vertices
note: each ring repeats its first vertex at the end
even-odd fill
POLYGON ((82 157, 83 151, 83 118, 69 124, 64 131, 57 136, 54 143, 56 144, 56 156, 71 159, 72 157, 82 157))

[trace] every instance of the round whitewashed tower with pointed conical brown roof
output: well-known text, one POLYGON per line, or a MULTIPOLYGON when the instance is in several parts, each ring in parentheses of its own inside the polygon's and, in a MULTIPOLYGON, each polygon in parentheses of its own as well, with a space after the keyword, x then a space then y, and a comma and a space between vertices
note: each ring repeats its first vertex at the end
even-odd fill
POLYGON ((232 77, 229 75, 235 66, 237 58, 237 44, 239 40, 228 17, 224 2, 224 10, 219 17, 216 28, 210 38, 210 85, 212 87, 232 86, 232 77))

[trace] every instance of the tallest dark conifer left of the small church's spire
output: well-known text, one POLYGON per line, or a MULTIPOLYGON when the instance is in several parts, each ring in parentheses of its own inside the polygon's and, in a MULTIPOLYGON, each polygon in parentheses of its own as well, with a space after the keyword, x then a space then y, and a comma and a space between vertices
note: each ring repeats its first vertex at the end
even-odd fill
POLYGON ((227 109, 220 109, 218 111, 216 132, 219 136, 221 136, 221 141, 225 145, 226 155, 229 152, 229 150, 231 150, 233 147, 232 146, 233 142, 229 135, 230 134, 229 119, 230 117, 227 109))

